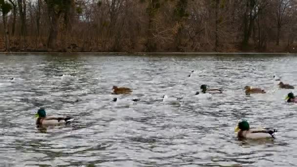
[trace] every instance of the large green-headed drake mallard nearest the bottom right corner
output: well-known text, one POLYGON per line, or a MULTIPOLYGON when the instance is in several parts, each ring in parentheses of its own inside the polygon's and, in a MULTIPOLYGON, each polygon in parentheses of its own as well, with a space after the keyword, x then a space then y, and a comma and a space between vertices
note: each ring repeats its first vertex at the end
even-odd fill
POLYGON ((272 128, 250 128, 248 121, 243 120, 235 127, 238 138, 246 139, 261 139, 261 138, 274 138, 276 129, 272 128))

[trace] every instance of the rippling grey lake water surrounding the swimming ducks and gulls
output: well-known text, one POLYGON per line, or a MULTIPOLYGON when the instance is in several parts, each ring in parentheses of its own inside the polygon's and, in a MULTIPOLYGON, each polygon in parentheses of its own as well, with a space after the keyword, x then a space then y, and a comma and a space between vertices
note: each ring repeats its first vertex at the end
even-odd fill
POLYGON ((296 64, 295 55, 0 55, 0 166, 296 166, 297 105, 273 81, 297 85, 296 64), (201 84, 224 92, 199 100, 201 84), (113 85, 133 94, 112 95, 113 85), (267 93, 246 96, 245 85, 267 93), (114 97, 141 101, 121 107, 114 97), (40 106, 75 120, 40 131, 40 106), (242 118, 276 127, 276 139, 238 141, 242 118))

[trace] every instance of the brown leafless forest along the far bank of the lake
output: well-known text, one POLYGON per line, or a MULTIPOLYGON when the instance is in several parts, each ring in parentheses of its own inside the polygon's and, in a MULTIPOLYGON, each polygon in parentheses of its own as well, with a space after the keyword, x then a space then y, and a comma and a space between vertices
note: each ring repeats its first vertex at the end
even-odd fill
POLYGON ((0 51, 297 52, 297 0, 0 0, 0 51))

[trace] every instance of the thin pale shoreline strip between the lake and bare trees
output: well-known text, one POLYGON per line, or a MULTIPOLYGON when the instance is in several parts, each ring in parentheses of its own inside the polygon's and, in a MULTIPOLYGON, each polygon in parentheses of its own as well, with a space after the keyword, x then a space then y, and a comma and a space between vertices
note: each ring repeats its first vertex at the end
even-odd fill
POLYGON ((0 54, 296 54, 285 52, 0 52, 0 54))

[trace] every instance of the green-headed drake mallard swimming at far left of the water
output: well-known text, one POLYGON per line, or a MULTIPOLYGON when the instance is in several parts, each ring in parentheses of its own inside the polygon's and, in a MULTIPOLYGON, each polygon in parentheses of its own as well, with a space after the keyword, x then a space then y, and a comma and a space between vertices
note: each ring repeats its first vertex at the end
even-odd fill
POLYGON ((65 125, 70 123, 72 120, 70 117, 66 116, 46 116, 46 112, 43 108, 40 108, 35 114, 37 120, 37 127, 51 126, 51 125, 65 125))

